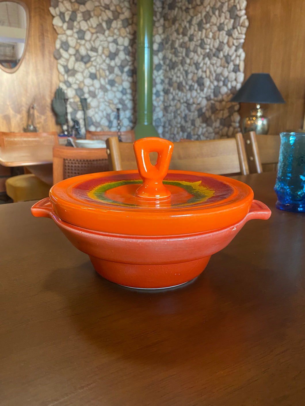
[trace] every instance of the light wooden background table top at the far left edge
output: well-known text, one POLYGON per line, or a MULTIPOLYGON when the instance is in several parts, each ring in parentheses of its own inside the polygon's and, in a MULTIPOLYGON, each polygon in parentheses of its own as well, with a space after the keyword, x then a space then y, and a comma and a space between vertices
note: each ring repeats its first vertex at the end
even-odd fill
POLYGON ((52 145, 16 145, 0 148, 0 164, 3 166, 30 166, 52 162, 52 145))

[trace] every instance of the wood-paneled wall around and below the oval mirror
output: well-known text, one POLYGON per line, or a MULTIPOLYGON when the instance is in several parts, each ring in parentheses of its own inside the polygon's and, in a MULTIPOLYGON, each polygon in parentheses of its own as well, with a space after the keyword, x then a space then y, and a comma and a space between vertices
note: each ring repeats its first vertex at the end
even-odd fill
POLYGON ((56 130, 51 100, 59 85, 53 57, 57 33, 48 8, 50 0, 22 0, 30 15, 29 40, 21 66, 15 73, 0 69, 0 131, 22 132, 28 107, 35 96, 39 131, 56 130))

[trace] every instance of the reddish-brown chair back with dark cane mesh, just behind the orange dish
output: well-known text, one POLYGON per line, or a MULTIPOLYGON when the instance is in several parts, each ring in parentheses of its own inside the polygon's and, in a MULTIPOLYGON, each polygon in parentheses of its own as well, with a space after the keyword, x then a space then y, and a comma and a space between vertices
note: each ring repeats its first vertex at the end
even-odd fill
POLYGON ((53 147, 53 183, 73 176, 108 171, 106 148, 53 147))

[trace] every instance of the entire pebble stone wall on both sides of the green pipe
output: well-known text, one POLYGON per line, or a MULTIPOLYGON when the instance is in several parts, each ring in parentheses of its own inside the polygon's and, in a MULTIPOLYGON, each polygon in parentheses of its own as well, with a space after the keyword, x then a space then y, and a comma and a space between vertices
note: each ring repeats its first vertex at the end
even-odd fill
MULTIPOLYGON (((231 136, 239 108, 228 101, 244 80, 246 0, 154 0, 153 119, 164 138, 231 136)), ((92 131, 136 121, 136 0, 51 0, 54 57, 68 113, 92 131)))

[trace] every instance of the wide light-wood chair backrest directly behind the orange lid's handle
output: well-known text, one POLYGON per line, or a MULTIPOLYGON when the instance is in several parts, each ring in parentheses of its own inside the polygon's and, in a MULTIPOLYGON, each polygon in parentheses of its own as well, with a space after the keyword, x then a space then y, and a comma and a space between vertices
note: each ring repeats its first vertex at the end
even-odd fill
MULTIPOLYGON (((132 143, 106 141, 110 171, 137 169, 132 143)), ((152 162, 156 157, 152 157, 152 162)), ((220 140, 174 142, 170 169, 196 171, 221 175, 249 173, 242 134, 220 140)))

